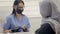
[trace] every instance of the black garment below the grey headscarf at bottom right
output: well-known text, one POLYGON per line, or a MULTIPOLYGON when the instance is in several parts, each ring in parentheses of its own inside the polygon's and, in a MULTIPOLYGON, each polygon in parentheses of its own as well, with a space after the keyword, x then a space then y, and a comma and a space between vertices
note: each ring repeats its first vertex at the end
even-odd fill
POLYGON ((36 34, 55 34, 55 31, 51 28, 50 24, 45 23, 39 29, 35 31, 36 34))

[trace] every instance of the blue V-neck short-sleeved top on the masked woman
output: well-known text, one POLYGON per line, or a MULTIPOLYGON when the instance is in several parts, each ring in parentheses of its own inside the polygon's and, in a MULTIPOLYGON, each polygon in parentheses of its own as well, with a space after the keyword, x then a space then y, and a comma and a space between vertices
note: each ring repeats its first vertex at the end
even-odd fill
POLYGON ((23 15, 23 18, 20 21, 17 19, 17 17, 14 14, 11 14, 10 16, 6 18, 3 28, 9 30, 9 29, 17 28, 17 27, 22 27, 22 25, 26 25, 27 28, 30 28, 28 17, 23 15))

